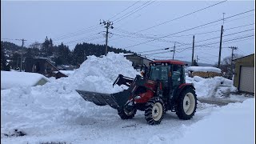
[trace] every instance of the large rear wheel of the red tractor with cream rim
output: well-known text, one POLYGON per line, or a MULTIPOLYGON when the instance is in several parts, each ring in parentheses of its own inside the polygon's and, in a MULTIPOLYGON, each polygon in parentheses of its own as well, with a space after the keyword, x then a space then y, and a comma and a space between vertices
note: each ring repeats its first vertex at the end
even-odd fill
POLYGON ((191 88, 188 88, 179 95, 176 114, 180 119, 190 119, 197 109, 197 97, 191 88))

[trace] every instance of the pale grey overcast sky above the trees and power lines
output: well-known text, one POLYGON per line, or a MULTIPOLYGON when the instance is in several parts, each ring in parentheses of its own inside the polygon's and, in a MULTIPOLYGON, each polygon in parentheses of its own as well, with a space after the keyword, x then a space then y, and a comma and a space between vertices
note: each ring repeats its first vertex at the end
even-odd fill
MULTIPOLYGON (((114 29, 110 29, 109 46, 142 52, 166 47, 173 50, 175 43, 174 58, 191 61, 194 34, 194 57, 198 56, 198 62, 214 64, 218 62, 223 24, 223 21, 214 21, 222 19, 225 13, 222 58, 231 55, 229 46, 238 46, 236 54, 254 54, 255 12, 241 14, 254 10, 254 1, 227 1, 212 6, 218 2, 1 1, 1 40, 21 45, 22 42, 14 39, 25 38, 25 46, 29 46, 35 41, 43 42, 47 36, 53 39, 54 45, 63 42, 70 50, 78 42, 105 44, 103 33, 106 28, 99 24, 99 20, 110 18, 114 29), (190 14, 207 6, 212 7, 190 14), (179 18, 186 14, 190 15, 179 18), (235 14, 239 15, 229 18, 235 14), (202 26, 209 22, 214 23, 202 26), (164 24, 159 25, 161 23, 164 24), (199 27, 194 28, 196 26, 199 27)), ((152 54, 165 51, 142 54, 147 54, 148 58, 172 58, 172 52, 152 54)))

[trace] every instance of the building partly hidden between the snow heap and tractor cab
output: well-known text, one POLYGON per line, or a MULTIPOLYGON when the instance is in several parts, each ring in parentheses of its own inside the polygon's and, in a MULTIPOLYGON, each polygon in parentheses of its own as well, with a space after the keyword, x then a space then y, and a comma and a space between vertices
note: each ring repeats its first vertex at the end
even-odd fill
POLYGON ((133 62, 133 65, 135 69, 140 69, 142 66, 150 66, 150 62, 154 62, 154 60, 146 57, 142 57, 141 55, 136 54, 124 54, 126 59, 130 60, 130 62, 133 62))

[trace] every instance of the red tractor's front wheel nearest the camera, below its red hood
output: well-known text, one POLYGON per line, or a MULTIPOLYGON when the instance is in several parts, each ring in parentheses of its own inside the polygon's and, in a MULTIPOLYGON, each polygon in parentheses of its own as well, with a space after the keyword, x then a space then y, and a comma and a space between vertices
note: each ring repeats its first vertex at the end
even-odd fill
POLYGON ((161 98, 151 98, 146 102, 145 119, 150 125, 158 125, 164 117, 166 108, 161 98))

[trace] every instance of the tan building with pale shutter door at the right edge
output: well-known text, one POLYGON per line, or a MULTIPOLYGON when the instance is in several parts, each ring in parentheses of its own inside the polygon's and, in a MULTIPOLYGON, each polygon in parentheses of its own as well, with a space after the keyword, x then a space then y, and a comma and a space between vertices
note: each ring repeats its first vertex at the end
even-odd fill
POLYGON ((239 92, 254 93, 254 54, 234 59, 234 86, 239 92))

